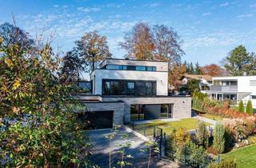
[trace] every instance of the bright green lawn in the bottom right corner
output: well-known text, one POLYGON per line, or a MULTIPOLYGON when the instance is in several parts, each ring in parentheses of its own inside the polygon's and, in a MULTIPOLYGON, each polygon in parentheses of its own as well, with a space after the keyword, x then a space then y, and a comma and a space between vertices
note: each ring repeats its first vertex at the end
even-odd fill
POLYGON ((238 168, 256 167, 256 145, 242 147, 227 154, 222 154, 222 158, 234 158, 238 163, 238 168))

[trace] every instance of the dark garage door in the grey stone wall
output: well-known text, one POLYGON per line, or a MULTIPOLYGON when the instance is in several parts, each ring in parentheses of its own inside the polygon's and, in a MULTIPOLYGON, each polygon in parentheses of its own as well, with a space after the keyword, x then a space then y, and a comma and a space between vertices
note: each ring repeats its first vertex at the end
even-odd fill
POLYGON ((91 129, 104 129, 113 127, 114 111, 88 112, 87 119, 91 129))

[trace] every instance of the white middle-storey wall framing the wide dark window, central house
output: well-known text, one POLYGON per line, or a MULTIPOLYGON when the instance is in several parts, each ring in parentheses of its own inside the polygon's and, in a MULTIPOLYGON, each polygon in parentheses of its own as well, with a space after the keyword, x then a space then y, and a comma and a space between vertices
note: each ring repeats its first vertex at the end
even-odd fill
POLYGON ((135 70, 94 70, 93 94, 102 94, 102 79, 149 80, 157 82, 156 94, 168 95, 168 72, 135 70))

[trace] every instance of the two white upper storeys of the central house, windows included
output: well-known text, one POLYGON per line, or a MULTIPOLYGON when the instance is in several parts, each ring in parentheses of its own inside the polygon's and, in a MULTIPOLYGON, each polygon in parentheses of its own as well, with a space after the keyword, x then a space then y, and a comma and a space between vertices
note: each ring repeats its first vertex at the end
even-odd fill
POLYGON ((90 74, 92 94, 168 95, 168 62, 107 58, 90 74))

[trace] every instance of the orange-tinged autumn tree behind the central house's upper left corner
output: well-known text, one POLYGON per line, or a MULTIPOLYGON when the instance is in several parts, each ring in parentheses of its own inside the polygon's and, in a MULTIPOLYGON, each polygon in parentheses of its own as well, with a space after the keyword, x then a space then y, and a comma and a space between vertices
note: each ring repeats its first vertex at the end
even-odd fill
POLYGON ((82 62, 85 62, 84 66, 89 73, 97 68, 99 62, 111 58, 106 36, 98 34, 97 31, 86 33, 75 44, 75 51, 82 62))

